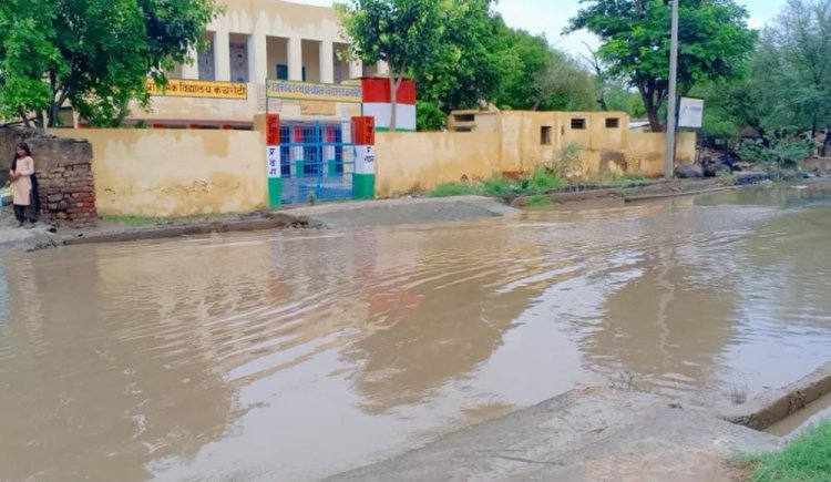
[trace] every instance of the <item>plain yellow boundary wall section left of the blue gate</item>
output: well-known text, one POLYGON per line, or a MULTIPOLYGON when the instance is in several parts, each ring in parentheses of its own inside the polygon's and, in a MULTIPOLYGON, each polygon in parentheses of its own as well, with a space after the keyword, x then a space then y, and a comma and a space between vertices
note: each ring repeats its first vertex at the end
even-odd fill
POLYGON ((92 143, 101 215, 182 217, 266 206, 261 132, 64 130, 92 143))

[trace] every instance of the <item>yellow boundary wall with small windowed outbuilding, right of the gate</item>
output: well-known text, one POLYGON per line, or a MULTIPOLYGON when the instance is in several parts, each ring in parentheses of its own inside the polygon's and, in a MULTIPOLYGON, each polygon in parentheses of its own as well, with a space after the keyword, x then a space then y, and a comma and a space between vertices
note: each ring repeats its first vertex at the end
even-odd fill
MULTIPOLYGON (((493 174, 531 173, 570 144, 581 146, 583 165, 577 175, 664 174, 666 134, 629 132, 623 112, 501 112, 481 119, 472 124, 473 132, 378 133, 376 195, 399 196, 493 174)), ((696 133, 680 133, 677 163, 693 163, 695 154, 696 133)))

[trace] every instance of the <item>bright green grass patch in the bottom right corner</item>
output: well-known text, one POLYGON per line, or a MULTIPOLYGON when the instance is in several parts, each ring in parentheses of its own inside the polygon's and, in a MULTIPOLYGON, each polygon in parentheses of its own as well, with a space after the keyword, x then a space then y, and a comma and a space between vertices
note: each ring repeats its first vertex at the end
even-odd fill
POLYGON ((779 452, 749 462, 753 482, 831 481, 831 422, 809 430, 779 452))

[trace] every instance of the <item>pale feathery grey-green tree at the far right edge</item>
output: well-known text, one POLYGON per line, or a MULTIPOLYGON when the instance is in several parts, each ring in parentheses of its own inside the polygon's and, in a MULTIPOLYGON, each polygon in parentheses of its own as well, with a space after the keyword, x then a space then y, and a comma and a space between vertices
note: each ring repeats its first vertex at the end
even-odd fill
POLYGON ((789 0, 751 63, 768 130, 831 124, 831 0, 789 0))

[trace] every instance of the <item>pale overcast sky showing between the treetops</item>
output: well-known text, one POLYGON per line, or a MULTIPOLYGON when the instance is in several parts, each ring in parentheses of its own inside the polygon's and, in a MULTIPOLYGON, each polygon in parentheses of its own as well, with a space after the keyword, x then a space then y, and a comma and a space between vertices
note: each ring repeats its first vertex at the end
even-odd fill
MULTIPOLYGON (((290 0, 297 3, 331 6, 331 0, 290 0)), ((739 0, 750 11, 750 27, 761 28, 777 16, 786 0, 739 0)), ((563 28, 579 9, 579 0, 500 0, 496 10, 505 22, 533 33, 545 33, 548 41, 571 53, 585 53, 583 42, 596 47, 597 41, 585 32, 562 37, 563 28)))

